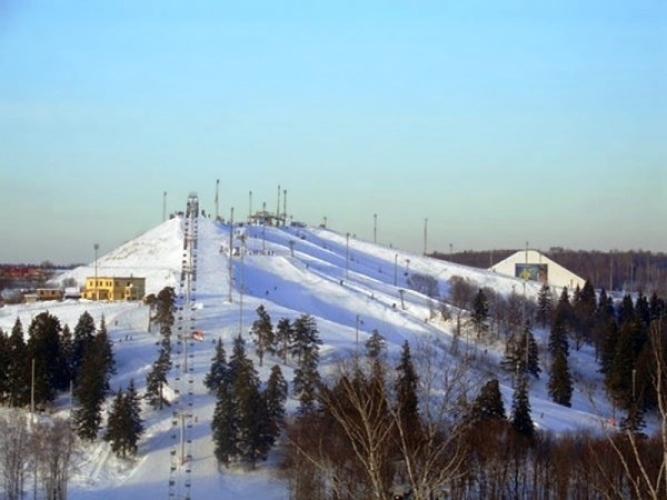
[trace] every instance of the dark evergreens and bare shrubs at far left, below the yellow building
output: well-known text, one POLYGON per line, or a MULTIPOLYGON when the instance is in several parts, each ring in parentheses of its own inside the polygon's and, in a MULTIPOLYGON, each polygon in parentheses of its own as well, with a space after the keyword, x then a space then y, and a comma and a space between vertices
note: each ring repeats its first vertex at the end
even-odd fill
MULTIPOLYGON (((104 318, 98 328, 86 311, 72 331, 45 311, 32 319, 27 340, 17 318, 9 335, 0 329, 0 360, 0 400, 15 412, 0 422, 0 477, 7 498, 21 497, 30 473, 46 498, 65 499, 77 438, 97 439, 115 373, 104 318), (66 391, 73 397, 69 421, 34 422, 22 411, 47 409, 66 391)), ((142 432, 140 398, 131 381, 126 393, 119 389, 103 437, 118 456, 127 457, 136 453, 142 432)))

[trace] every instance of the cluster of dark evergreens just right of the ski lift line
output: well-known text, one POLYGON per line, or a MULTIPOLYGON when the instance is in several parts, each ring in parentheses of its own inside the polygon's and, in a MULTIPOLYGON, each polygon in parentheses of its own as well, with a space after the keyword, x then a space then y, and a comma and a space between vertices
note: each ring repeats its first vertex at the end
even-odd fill
MULTIPOLYGON (((282 318, 274 331, 263 305, 257 308, 257 315, 250 334, 260 367, 265 354, 276 355, 285 363, 288 359, 294 362, 292 394, 299 401, 298 412, 313 411, 320 380, 321 344, 315 319, 308 314, 294 322, 282 318)), ((227 360, 219 339, 204 384, 217 400, 211 429, 218 463, 254 467, 257 461, 266 459, 284 425, 284 405, 290 393, 280 366, 274 364, 268 380, 262 383, 247 355, 245 340, 240 336, 234 339, 227 360)))

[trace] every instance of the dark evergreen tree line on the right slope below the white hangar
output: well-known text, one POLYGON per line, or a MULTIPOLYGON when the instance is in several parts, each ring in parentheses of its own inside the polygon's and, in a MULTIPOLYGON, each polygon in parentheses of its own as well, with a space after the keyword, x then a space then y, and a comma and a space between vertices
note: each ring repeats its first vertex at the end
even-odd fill
MULTIPOLYGON (((548 331, 547 388, 554 402, 571 406, 574 382, 570 349, 578 351, 590 345, 605 375, 609 396, 623 414, 623 428, 640 430, 644 415, 658 409, 648 338, 651 325, 667 314, 667 304, 657 293, 650 297, 626 294, 614 301, 604 288, 596 293, 592 283, 586 281, 572 293, 564 287, 556 297, 545 283, 533 302, 516 292, 507 298, 487 288, 474 292, 469 282, 458 277, 450 283, 449 300, 457 304, 456 314, 465 315, 464 329, 466 325, 472 329, 475 339, 498 339, 504 334, 502 366, 517 377, 517 383, 520 376, 539 378, 543 371, 540 347, 533 334, 533 328, 538 327, 548 331)), ((451 318, 451 313, 447 317, 451 318)), ((461 334, 454 333, 453 350, 457 351, 461 334)))

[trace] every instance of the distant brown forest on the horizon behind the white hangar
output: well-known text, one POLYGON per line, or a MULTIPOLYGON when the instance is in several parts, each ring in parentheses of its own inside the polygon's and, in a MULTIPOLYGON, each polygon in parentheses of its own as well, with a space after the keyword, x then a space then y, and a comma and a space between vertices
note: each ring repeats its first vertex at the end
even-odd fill
MULTIPOLYGON (((488 269, 518 250, 466 250, 451 254, 436 251, 431 256, 466 266, 488 269)), ((645 293, 667 290, 667 254, 663 252, 643 250, 601 252, 556 247, 543 253, 573 273, 590 280, 595 288, 641 290, 645 293)))

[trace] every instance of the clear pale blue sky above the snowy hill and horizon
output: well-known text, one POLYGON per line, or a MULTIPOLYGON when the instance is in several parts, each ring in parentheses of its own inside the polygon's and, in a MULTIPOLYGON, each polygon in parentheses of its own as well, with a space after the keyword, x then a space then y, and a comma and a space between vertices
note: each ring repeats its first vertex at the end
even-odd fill
POLYGON ((0 0, 0 262, 91 261, 217 179, 225 217, 281 186, 418 252, 425 219, 667 251, 666 130, 663 1, 0 0))

